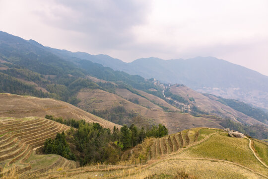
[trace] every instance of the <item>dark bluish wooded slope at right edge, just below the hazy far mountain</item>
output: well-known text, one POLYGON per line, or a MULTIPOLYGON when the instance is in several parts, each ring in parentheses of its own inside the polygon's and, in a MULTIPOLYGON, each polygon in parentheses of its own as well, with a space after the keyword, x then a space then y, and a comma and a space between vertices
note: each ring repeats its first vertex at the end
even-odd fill
POLYGON ((258 121, 268 124, 268 113, 262 109, 252 107, 245 102, 241 102, 235 99, 220 98, 219 101, 224 101, 226 105, 232 107, 233 109, 242 112, 250 117, 253 117, 258 121))

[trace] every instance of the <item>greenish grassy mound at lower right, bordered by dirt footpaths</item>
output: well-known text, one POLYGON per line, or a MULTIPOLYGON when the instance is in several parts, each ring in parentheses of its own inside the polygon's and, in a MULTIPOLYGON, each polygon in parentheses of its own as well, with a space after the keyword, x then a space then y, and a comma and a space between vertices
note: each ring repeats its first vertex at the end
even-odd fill
POLYGON ((215 134, 201 144, 190 147, 180 157, 219 159, 234 162, 268 175, 268 170, 255 158, 245 138, 231 138, 215 134))

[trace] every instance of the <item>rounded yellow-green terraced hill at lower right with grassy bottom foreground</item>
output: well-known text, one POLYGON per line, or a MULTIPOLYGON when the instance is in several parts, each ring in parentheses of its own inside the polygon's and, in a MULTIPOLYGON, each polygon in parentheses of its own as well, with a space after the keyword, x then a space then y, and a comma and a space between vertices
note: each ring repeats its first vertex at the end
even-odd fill
MULTIPOLYGON (((267 155, 268 145, 259 140, 231 138, 221 129, 194 128, 147 139, 136 146, 138 150, 132 150, 134 157, 146 155, 147 151, 149 160, 143 165, 92 166, 33 178, 177 179, 178 172, 185 172, 198 179, 268 179, 268 168, 254 156, 250 140, 259 147, 258 155, 267 155)), ((264 157, 261 160, 267 161, 264 157)))

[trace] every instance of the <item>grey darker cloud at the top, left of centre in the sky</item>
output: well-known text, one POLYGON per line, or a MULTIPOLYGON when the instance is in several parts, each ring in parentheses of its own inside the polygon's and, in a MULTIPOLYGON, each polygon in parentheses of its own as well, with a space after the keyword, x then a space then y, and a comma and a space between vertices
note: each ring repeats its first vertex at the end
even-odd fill
POLYGON ((139 0, 55 0, 35 13, 47 25, 82 33, 92 47, 105 49, 133 41, 131 29, 147 11, 139 0))

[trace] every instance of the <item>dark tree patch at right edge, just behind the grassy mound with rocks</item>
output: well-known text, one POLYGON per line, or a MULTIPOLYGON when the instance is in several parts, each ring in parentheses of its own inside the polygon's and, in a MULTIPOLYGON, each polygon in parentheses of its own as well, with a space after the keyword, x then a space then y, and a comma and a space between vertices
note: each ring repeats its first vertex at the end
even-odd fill
POLYGON ((256 139, 267 139, 268 131, 267 128, 263 125, 251 125, 246 126, 244 124, 240 124, 232 121, 231 119, 222 120, 220 123, 221 126, 225 128, 230 128, 231 130, 239 131, 244 134, 247 134, 256 139))

